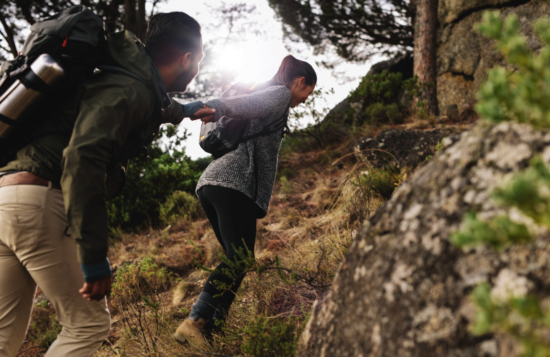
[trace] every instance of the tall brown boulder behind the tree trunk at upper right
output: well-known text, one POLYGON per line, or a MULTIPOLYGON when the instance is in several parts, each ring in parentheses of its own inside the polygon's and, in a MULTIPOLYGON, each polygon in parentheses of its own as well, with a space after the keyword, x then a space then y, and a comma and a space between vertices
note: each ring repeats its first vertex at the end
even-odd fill
POLYGON ((485 10, 500 10, 503 16, 517 14, 529 47, 540 48, 531 24, 542 16, 550 16, 547 0, 441 0, 437 46, 437 99, 439 110, 456 106, 459 111, 470 108, 475 93, 485 80, 487 70, 505 65, 494 41, 474 30, 485 10))

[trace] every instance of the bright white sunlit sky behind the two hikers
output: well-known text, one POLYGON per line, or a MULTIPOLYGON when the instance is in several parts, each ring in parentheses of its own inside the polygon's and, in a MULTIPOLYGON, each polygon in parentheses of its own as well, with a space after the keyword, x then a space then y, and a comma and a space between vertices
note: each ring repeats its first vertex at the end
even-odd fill
MULTIPOLYGON (((225 43, 223 51, 230 56, 224 56, 214 62, 214 69, 233 71, 236 74, 234 82, 272 78, 283 57, 290 53, 314 67, 318 76, 318 88, 334 90, 334 94, 325 100, 327 106, 332 108, 344 100, 350 91, 358 87, 362 76, 371 67, 370 63, 342 63, 336 69, 330 70, 318 65, 320 60, 326 60, 326 56, 314 56, 312 49, 304 43, 292 43, 290 49, 285 48, 281 23, 276 20, 275 12, 270 8, 267 0, 168 0, 166 3, 159 3, 157 9, 159 12, 182 11, 195 18, 201 24, 203 42, 206 44, 208 41, 216 41, 228 36, 228 25, 215 16, 212 9, 232 3, 254 5, 256 9, 245 22, 250 23, 250 29, 256 28, 261 32, 260 34, 254 31, 232 34, 232 41, 225 43)), ((192 159, 209 155, 200 148, 198 143, 200 125, 198 120, 191 122, 188 119, 180 124, 188 130, 189 137, 184 142, 184 146, 186 146, 186 154, 192 159)))

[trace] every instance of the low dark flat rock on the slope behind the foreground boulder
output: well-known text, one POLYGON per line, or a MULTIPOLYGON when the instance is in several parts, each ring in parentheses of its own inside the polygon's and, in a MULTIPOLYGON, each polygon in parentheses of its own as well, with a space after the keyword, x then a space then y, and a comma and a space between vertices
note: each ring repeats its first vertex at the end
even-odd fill
POLYGON ((358 160, 369 161, 375 168, 391 164, 398 167, 413 167, 435 153, 441 139, 456 133, 453 127, 434 130, 391 129, 376 137, 362 137, 351 143, 350 150, 358 160), (396 165, 397 164, 397 165, 396 165))

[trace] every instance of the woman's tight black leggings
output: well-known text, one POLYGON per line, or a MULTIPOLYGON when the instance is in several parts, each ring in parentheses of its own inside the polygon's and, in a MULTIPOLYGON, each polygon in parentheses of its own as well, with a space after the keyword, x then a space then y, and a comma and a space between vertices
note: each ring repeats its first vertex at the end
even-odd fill
MULTIPOLYGON (((225 251, 230 261, 238 261, 239 256, 236 250, 248 250, 254 254, 254 242, 256 240, 256 216, 259 214, 259 207, 250 198, 239 191, 219 186, 203 186, 197 192, 201 206, 212 224, 212 229, 218 238, 219 244, 225 251)), ((227 314, 233 302, 236 290, 241 286, 244 278, 244 271, 232 269, 232 276, 223 273, 228 264, 221 262, 208 277, 204 284, 203 291, 217 297, 217 311, 215 316, 221 318, 227 314), (215 284, 212 284, 216 281, 215 284), (217 282, 229 289, 220 289, 217 282)), ((226 270, 227 271, 227 270, 226 270)))

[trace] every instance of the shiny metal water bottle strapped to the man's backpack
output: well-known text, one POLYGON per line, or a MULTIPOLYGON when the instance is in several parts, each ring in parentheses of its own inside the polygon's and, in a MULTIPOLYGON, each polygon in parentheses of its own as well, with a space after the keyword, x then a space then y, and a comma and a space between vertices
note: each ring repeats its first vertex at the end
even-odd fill
POLYGON ((43 97, 44 92, 54 87, 65 71, 49 54, 41 54, 30 71, 15 80, 7 91, 0 95, 0 139, 8 137, 14 124, 22 119, 43 97))

